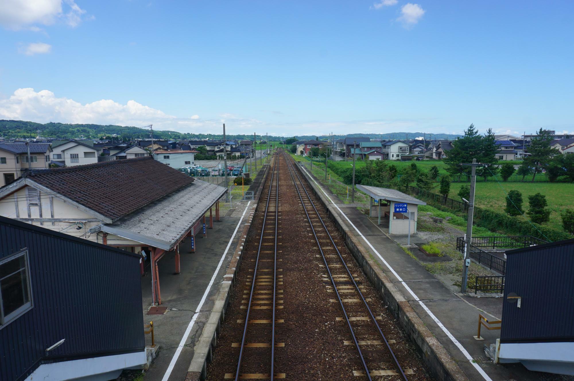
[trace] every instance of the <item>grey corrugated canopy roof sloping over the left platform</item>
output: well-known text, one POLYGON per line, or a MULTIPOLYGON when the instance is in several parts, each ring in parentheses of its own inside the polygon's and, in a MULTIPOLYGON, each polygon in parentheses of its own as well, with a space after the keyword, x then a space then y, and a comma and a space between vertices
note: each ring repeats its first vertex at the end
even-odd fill
POLYGON ((195 180, 193 184, 123 217, 103 224, 102 231, 164 250, 172 250, 189 228, 227 191, 195 180))

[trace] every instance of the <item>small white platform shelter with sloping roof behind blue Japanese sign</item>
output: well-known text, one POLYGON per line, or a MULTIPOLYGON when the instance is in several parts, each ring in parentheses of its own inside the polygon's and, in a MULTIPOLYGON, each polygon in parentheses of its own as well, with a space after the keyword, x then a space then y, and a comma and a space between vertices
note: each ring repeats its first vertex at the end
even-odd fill
POLYGON ((370 197, 369 217, 378 217, 378 225, 388 227, 389 234, 416 234, 418 205, 426 205, 424 201, 396 189, 369 185, 356 187, 370 197))

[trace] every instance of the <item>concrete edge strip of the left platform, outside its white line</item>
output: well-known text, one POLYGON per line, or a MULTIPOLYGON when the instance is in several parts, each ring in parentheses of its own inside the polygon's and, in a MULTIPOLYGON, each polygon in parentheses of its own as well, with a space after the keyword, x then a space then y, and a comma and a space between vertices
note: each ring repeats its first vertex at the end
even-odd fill
POLYGON ((265 185, 265 179, 267 178, 269 168, 269 165, 264 165, 261 169, 263 170, 263 180, 261 181, 257 192, 255 192, 254 203, 251 204, 250 210, 246 212, 245 218, 247 224, 237 232, 240 237, 239 242, 235 247, 231 262, 223 276, 223 282, 219 285, 219 290, 214 301, 214 308, 211 310, 210 317, 201 331, 199 340, 197 340, 193 347, 193 357, 189 364, 185 381, 199 381, 204 380, 207 377, 207 364, 211 363, 214 355, 217 337, 225 318, 227 305, 229 304, 229 297, 233 291, 233 286, 235 285, 235 275, 241 265, 243 248, 246 246, 249 236, 252 235, 250 233, 251 220, 253 219, 251 211, 257 211, 257 207, 259 205, 258 200, 261 196, 263 185, 265 185))

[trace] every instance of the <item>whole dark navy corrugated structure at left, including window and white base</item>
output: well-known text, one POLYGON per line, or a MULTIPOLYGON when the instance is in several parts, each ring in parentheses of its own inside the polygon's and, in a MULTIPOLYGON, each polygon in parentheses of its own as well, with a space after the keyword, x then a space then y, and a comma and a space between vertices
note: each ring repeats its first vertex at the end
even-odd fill
POLYGON ((0 237, 1 380, 109 380, 148 365, 139 254, 6 217, 0 237))

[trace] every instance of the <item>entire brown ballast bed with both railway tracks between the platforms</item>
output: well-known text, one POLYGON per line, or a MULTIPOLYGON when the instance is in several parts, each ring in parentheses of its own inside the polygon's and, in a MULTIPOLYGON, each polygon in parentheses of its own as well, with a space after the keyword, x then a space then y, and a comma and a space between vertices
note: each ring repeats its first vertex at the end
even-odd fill
POLYGON ((207 379, 431 380, 290 156, 270 165, 207 379))

